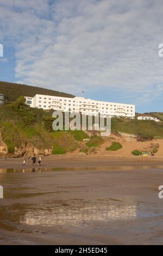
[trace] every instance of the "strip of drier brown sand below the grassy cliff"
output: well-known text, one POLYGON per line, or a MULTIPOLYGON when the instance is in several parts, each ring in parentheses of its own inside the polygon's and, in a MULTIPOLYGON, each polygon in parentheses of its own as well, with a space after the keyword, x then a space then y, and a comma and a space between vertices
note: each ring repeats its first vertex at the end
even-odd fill
MULTIPOLYGON (((0 168, 23 168, 23 158, 0 159, 0 168)), ((160 166, 163 157, 108 157, 108 156, 46 156, 42 157, 43 168, 108 167, 108 166, 160 166)), ((26 167, 32 162, 26 160, 26 167)), ((38 167, 37 164, 35 167, 38 167)))

